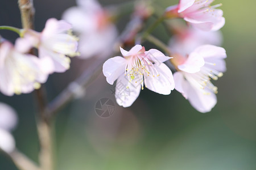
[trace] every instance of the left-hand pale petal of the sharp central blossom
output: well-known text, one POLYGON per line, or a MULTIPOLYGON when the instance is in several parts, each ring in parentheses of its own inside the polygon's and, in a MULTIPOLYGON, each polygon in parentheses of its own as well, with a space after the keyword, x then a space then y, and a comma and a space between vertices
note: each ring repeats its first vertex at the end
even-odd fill
POLYGON ((109 84, 113 84, 114 81, 123 74, 125 75, 126 59, 120 56, 108 59, 103 65, 103 74, 106 76, 106 80, 109 84))

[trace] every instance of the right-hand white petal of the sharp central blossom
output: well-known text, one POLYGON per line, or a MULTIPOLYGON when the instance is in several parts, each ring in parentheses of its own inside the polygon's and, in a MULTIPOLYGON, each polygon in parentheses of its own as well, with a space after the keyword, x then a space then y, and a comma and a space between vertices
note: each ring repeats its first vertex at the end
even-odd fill
POLYGON ((158 70, 159 76, 144 75, 146 88, 162 95, 171 94, 171 90, 174 90, 174 77, 171 70, 164 63, 154 66, 158 70))

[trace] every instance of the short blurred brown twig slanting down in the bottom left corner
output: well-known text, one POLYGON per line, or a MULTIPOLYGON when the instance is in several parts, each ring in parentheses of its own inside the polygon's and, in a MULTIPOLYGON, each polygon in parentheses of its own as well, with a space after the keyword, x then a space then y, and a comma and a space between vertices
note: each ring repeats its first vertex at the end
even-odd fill
POLYGON ((26 155, 22 154, 18 150, 14 150, 9 154, 10 158, 13 159, 14 164, 21 170, 42 170, 32 160, 27 158, 26 155))

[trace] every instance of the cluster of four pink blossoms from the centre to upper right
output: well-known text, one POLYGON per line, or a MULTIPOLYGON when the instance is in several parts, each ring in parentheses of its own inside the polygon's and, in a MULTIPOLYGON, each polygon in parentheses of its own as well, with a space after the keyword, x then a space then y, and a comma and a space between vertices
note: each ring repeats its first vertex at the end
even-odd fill
POLYGON ((209 112, 216 105, 217 80, 226 70, 226 51, 221 45, 225 19, 221 5, 214 0, 180 0, 164 12, 166 19, 183 18, 191 27, 177 27, 171 37, 171 57, 157 49, 148 51, 135 45, 129 51, 120 48, 122 56, 108 59, 103 73, 109 84, 117 80, 115 98, 119 105, 130 107, 145 86, 158 94, 169 95, 174 88, 199 112, 209 112), (170 61, 175 73, 163 62, 170 61), (122 87, 122 88, 120 88, 122 87), (120 90, 121 89, 121 90, 120 90))

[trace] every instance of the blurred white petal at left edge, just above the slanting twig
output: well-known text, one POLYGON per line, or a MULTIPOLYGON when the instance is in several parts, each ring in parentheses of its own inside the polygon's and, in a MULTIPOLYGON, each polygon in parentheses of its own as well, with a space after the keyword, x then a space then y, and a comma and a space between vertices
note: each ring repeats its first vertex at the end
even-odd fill
POLYGON ((13 135, 3 129, 0 129, 0 148, 9 154, 15 149, 15 140, 13 135))

